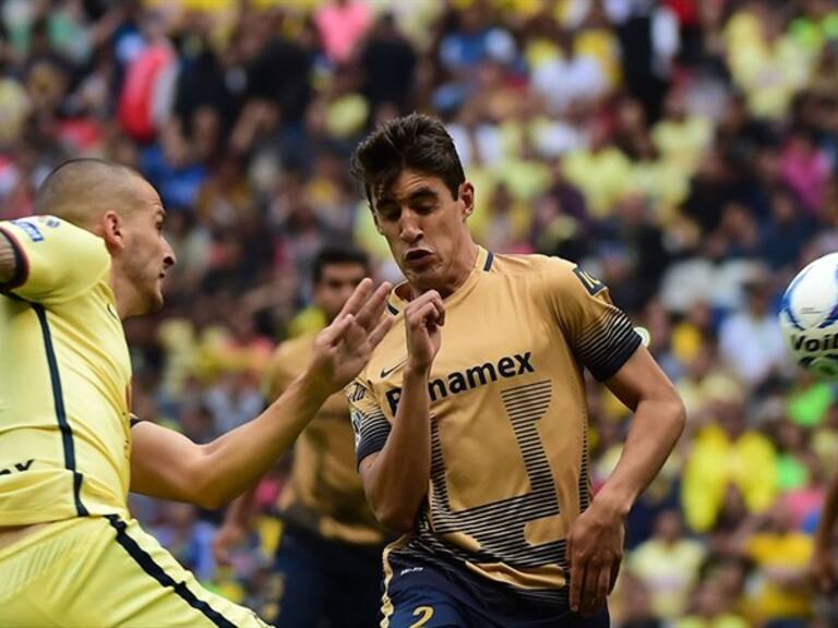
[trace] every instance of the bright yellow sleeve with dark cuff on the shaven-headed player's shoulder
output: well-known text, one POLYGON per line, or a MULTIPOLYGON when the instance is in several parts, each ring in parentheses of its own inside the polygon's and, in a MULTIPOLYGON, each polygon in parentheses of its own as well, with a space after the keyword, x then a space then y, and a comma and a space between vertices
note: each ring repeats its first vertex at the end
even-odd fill
POLYGON ((17 273, 10 292, 36 303, 61 303, 93 288, 109 270, 105 242, 53 216, 0 221, 0 232, 12 243, 17 273))

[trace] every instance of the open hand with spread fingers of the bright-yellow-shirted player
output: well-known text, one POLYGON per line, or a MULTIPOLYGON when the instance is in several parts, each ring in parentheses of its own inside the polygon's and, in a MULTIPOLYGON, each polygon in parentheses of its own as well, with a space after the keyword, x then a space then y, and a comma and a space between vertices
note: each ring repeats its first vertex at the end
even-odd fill
POLYGON ((372 279, 364 279, 332 324, 318 334, 309 372, 328 391, 339 390, 358 375, 390 329, 393 318, 382 314, 391 288, 385 281, 373 291, 372 279))

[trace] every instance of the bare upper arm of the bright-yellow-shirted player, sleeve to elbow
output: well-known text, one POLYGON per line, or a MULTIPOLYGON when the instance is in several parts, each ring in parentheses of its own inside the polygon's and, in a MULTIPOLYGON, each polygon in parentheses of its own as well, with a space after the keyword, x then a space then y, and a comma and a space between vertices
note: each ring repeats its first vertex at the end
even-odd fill
POLYGON ((140 421, 131 428, 131 491, 195 502, 204 450, 182 434, 140 421))

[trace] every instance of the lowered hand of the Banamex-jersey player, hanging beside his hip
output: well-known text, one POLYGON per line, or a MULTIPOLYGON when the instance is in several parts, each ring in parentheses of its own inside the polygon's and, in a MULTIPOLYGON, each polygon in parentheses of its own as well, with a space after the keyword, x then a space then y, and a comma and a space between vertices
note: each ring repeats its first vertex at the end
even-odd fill
POLYGON ((595 499, 567 534, 571 609, 589 615, 602 609, 620 572, 623 518, 595 499))

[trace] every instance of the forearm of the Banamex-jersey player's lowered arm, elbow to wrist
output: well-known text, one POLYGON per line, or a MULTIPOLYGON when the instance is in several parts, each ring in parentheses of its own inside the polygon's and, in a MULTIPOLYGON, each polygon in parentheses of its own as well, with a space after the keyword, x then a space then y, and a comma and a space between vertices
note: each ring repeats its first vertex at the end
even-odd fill
POLYGON ((686 412, 674 390, 637 403, 623 452, 595 502, 622 516, 658 474, 684 430, 686 412))

